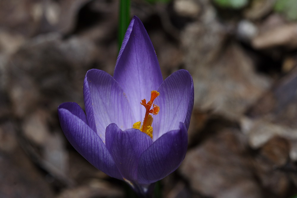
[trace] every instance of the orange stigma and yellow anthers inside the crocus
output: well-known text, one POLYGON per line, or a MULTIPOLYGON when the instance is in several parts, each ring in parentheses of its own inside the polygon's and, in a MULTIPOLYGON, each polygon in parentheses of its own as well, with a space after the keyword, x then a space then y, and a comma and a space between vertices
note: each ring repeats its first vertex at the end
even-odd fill
POLYGON ((146 108, 146 114, 144 116, 142 126, 140 127, 141 122, 135 122, 133 124, 134 129, 139 129, 143 133, 146 133, 153 139, 153 127, 151 127, 151 124, 153 123, 153 117, 150 115, 154 114, 157 115, 159 113, 160 107, 153 104, 154 99, 159 96, 160 93, 158 91, 151 91, 151 99, 149 102, 146 103, 146 99, 141 100, 140 104, 142 104, 146 108), (153 108, 151 109, 151 105, 153 105, 153 108))

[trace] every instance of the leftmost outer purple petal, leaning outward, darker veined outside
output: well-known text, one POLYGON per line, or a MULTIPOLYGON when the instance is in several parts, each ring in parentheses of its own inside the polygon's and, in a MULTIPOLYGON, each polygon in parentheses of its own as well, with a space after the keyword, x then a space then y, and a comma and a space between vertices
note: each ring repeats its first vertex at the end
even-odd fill
POLYGON ((94 167, 111 177, 121 175, 100 137, 87 124, 86 115, 75 102, 58 107, 61 128, 70 144, 94 167))

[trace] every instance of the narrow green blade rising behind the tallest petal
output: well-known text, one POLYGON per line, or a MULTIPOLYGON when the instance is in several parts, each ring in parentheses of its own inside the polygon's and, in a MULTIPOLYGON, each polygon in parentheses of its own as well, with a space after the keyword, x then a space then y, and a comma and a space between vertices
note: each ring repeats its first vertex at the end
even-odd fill
POLYGON ((125 36, 125 32, 130 23, 130 0, 120 0, 119 10, 119 31, 118 31, 118 44, 119 50, 125 36))

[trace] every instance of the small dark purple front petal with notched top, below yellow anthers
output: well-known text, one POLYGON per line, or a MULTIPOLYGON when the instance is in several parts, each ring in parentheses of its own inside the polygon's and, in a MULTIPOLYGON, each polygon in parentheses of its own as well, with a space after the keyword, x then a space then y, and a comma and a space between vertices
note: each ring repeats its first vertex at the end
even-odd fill
POLYGON ((152 139, 138 129, 122 131, 112 123, 106 128, 106 147, 123 178, 137 181, 138 160, 152 139))

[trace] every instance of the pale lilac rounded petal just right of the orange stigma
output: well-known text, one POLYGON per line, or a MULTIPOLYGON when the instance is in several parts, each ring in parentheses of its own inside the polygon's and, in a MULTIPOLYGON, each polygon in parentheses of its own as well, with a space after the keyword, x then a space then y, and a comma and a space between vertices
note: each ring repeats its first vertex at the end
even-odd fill
MULTIPOLYGON (((160 95, 154 103, 160 107, 158 115, 154 116, 153 140, 168 131, 179 128, 180 122, 185 122, 189 106, 192 105, 192 77, 187 70, 181 69, 167 77, 160 85, 160 95)), ((189 118, 187 118, 187 122, 189 118)), ((188 123, 187 123, 188 125, 188 123)))

